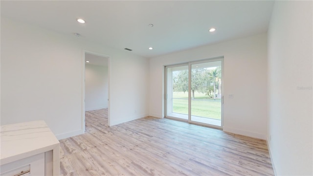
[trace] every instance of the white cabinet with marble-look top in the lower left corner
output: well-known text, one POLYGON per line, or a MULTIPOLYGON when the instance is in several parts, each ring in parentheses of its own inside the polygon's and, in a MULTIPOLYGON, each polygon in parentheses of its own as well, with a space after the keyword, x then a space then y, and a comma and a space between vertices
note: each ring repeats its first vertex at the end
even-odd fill
POLYGON ((44 121, 1 126, 1 176, 59 176, 60 143, 44 121))

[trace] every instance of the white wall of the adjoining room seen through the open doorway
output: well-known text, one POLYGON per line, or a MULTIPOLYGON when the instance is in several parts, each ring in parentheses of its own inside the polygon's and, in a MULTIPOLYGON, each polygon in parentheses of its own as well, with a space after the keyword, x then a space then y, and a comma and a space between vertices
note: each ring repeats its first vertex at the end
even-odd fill
POLYGON ((86 64, 85 110, 108 108, 108 66, 86 64))

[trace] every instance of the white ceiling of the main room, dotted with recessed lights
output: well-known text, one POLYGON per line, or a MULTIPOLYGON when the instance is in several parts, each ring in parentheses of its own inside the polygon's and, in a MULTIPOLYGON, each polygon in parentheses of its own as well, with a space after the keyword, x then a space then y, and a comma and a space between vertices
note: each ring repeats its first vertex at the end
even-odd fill
POLYGON ((267 32, 270 0, 0 1, 1 17, 151 58, 267 32), (86 23, 76 20, 82 18, 86 23), (153 24, 153 27, 148 26, 153 24), (208 29, 215 27, 215 32, 208 29), (153 50, 149 50, 153 47, 153 50))

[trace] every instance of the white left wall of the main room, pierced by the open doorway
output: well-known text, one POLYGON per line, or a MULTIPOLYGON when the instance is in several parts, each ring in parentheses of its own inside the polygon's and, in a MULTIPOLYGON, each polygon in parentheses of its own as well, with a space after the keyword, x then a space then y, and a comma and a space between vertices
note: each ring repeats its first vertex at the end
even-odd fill
POLYGON ((41 119, 59 139, 82 133, 84 50, 110 56, 110 125, 148 115, 146 58, 1 16, 1 125, 41 119))

